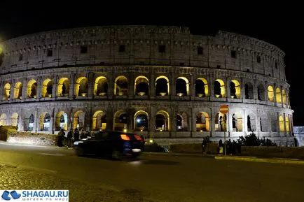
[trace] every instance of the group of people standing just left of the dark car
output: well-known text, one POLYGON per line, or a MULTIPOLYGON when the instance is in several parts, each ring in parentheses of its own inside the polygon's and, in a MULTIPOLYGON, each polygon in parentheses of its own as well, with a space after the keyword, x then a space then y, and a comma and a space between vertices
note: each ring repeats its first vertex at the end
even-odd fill
POLYGON ((87 138, 90 135, 91 135, 90 131, 88 130, 85 131, 85 129, 81 129, 80 133, 78 129, 70 129, 67 134, 65 134, 64 129, 60 129, 58 133, 57 145, 59 147, 63 147, 64 143, 66 143, 66 146, 70 148, 72 143, 74 143, 75 141, 78 141, 83 138, 87 138))

